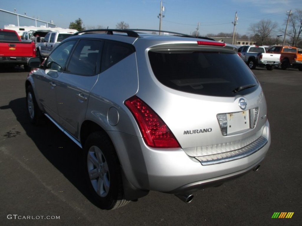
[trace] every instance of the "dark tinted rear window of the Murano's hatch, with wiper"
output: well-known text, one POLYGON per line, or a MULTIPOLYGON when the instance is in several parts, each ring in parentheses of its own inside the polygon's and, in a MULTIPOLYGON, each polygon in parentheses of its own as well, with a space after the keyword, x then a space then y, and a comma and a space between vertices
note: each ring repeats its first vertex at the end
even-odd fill
POLYGON ((230 97, 251 93, 258 87, 254 74, 237 54, 149 51, 148 55, 155 77, 172 89, 230 97), (240 86, 249 85, 255 86, 238 91, 240 86))

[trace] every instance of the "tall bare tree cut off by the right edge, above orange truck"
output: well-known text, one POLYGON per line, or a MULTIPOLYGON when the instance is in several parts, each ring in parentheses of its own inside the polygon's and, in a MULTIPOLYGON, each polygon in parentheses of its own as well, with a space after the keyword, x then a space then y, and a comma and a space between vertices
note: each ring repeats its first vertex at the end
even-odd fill
POLYGON ((289 18, 289 25, 291 32, 286 35, 291 37, 293 46, 302 47, 302 10, 296 9, 294 14, 289 18))

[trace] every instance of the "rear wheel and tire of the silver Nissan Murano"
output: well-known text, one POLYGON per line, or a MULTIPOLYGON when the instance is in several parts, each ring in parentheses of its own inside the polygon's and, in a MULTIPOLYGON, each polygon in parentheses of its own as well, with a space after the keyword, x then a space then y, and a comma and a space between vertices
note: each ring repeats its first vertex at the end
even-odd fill
POLYGON ((101 209, 116 209, 126 205, 120 162, 106 133, 88 136, 84 146, 85 177, 90 194, 101 209))

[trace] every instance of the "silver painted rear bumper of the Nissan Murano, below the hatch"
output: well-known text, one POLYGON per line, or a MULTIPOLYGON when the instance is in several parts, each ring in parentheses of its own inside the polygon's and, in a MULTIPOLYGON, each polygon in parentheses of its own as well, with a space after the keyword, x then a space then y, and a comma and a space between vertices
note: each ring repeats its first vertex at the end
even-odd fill
MULTIPOLYGON (((267 142, 259 150, 241 159, 213 165, 201 165, 182 149, 152 149, 143 139, 119 132, 114 145, 127 180, 137 189, 165 193, 194 192, 241 176, 255 168, 264 159, 271 143, 270 128, 266 122, 262 137, 267 142)), ((114 139, 113 139, 114 140, 114 139)))

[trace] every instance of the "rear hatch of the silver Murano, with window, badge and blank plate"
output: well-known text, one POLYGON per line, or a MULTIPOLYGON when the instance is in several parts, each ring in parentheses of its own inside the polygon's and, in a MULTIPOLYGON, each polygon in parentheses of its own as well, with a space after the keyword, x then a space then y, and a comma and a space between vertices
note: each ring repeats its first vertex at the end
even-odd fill
POLYGON ((265 98, 254 74, 236 49, 216 43, 153 46, 147 53, 151 79, 140 78, 137 96, 193 157, 248 147, 262 139, 266 122, 265 98))

